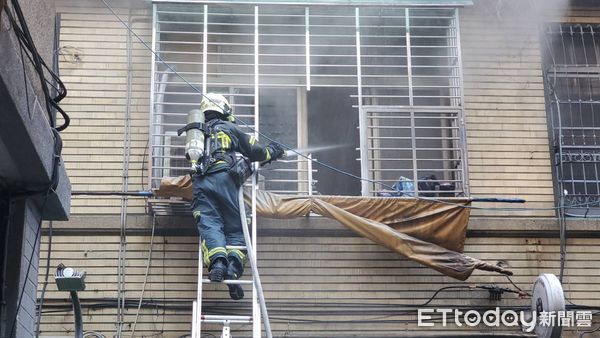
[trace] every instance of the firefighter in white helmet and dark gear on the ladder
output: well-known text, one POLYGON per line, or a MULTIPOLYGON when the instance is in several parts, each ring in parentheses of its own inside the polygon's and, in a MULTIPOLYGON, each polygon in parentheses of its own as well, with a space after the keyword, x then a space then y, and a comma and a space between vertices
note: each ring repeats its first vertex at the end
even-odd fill
MULTIPOLYGON (((246 261, 245 250, 226 248, 246 245, 238 204, 238 189, 246 176, 240 179, 233 170, 239 161, 236 152, 252 162, 271 162, 283 157, 284 151, 275 142, 262 147, 254 136, 241 131, 233 123, 231 107, 223 95, 206 94, 200 109, 205 117, 208 146, 205 146, 204 170, 192 177, 192 212, 202 238, 209 279, 221 282, 240 278, 246 261)), ((231 298, 244 297, 239 285, 228 284, 228 287, 231 298)))

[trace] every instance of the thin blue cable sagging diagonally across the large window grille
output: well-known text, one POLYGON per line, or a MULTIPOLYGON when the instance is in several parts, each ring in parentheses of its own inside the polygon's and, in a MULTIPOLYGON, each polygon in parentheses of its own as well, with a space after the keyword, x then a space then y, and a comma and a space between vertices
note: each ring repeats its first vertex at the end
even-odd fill
MULTIPOLYGON (((203 98, 207 99, 208 101, 212 102, 213 104, 215 104, 217 107, 220 107, 220 105, 215 102, 214 100, 212 100, 210 97, 206 96, 198 87, 196 87, 194 84, 192 84, 191 82, 189 82, 183 75, 181 75, 179 72, 177 72, 175 70, 175 68, 173 68, 173 66, 171 66, 168 62, 166 62, 156 51, 154 51, 152 49, 152 47, 150 47, 148 45, 148 43, 146 41, 144 41, 144 39, 142 39, 137 33, 135 33, 135 31, 123 20, 121 19, 121 17, 114 11, 114 9, 106 2, 106 0, 101 0, 102 3, 104 3, 104 6, 113 14, 113 16, 115 16, 117 18, 117 20, 119 20, 121 22, 121 24, 123 26, 125 26, 125 28, 150 52, 152 53, 158 61, 160 61, 165 67, 167 67, 171 72, 173 72, 173 74, 175 74, 177 77, 179 77, 181 80, 183 80, 183 82, 188 85, 190 88, 192 88, 194 91, 196 91, 198 94, 200 94, 203 98)), ((301 152, 297 151, 296 149, 282 143, 279 142, 277 140, 275 140, 274 138, 269 137, 268 135, 264 134, 263 132, 257 131, 251 124, 245 122, 243 119, 236 117, 236 120, 241 122, 241 124, 247 128, 249 128, 250 130, 254 131, 255 133, 257 133, 258 135, 260 135, 261 137, 267 139, 268 141, 271 142, 275 142, 279 145, 281 145, 283 148, 292 151, 293 153, 295 153, 296 155, 298 155, 299 157, 302 157, 306 160, 312 161, 315 164, 321 165, 325 168, 328 168, 332 171, 335 171, 339 174, 354 178, 356 180, 360 180, 360 181, 365 181, 365 182, 369 182, 369 183, 373 183, 373 184, 377 184, 380 185, 382 187, 391 189, 391 190, 396 190, 395 188, 393 188, 392 186, 390 186, 387 183, 378 181, 378 180, 372 180, 369 178, 364 178, 364 177, 360 177, 357 175, 354 175, 350 172, 344 171, 342 169, 339 169, 333 165, 330 165, 328 163, 325 162, 321 162, 317 159, 313 159, 308 157, 307 155, 302 154, 301 152)), ((429 198, 429 197, 423 197, 423 196, 403 196, 405 198, 409 198, 409 199, 416 199, 416 200, 422 200, 422 201, 428 201, 428 202, 432 202, 432 203, 439 203, 439 204, 446 204, 446 205, 452 205, 455 207, 459 207, 459 208, 465 208, 465 209, 473 209, 473 210, 489 210, 489 211, 551 211, 551 210, 558 210, 560 208, 562 208, 561 206, 558 207, 551 207, 551 208, 507 208, 507 207, 476 207, 476 206, 471 206, 471 205, 464 205, 461 203, 455 203, 455 202, 451 202, 451 201, 446 201, 446 200, 440 200, 440 199, 436 199, 436 198, 429 198)), ((594 204, 596 203, 600 203, 600 202, 594 202, 594 204)))

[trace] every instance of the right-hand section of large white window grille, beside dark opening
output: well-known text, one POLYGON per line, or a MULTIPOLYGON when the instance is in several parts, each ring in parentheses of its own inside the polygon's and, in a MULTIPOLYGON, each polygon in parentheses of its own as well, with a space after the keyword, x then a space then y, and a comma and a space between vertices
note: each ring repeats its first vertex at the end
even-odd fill
MULTIPOLYGON (((400 183, 410 195, 466 194, 457 10, 361 13, 363 176, 400 183)), ((362 190, 386 188, 364 183, 362 190)))

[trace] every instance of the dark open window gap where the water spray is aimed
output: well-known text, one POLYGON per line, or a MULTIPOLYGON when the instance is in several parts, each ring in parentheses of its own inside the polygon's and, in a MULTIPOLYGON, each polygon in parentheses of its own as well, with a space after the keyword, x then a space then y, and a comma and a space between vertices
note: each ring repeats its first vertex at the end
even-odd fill
MULTIPOLYGON (((313 87, 308 92, 308 146, 329 147, 314 153, 318 160, 360 176, 358 109, 355 88, 313 87)), ((323 195, 360 195, 360 181, 316 165, 316 190, 323 195)))

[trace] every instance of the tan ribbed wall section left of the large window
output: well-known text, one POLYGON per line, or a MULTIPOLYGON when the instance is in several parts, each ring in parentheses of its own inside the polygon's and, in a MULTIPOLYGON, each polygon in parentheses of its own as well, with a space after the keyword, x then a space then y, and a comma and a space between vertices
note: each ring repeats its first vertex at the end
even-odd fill
MULTIPOLYGON (((115 6, 117 4, 115 3, 115 6)), ((117 7, 125 20, 128 9, 117 7)), ((98 1, 56 2, 61 15, 60 74, 67 90, 61 106, 71 117, 62 133, 63 159, 73 191, 120 191, 127 103, 127 30, 98 1)), ((151 40, 150 14, 132 9, 133 27, 151 40)), ((147 186, 150 53, 132 38, 130 190, 147 186), (144 186, 142 185, 144 181, 144 186)), ((116 214, 119 197, 73 197, 72 214, 116 214)), ((129 212, 144 213, 141 199, 129 212)))

